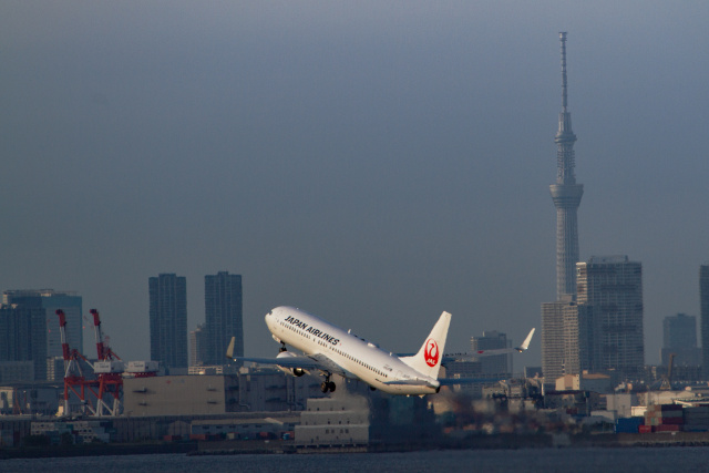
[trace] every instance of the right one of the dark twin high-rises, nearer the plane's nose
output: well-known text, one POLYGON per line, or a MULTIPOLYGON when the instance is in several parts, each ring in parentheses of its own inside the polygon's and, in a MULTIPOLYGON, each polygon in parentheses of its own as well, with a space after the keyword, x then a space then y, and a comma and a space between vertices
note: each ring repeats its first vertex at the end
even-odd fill
POLYGON ((226 349, 234 337, 234 356, 244 356, 242 276, 219 271, 204 278, 205 364, 227 364, 226 349))

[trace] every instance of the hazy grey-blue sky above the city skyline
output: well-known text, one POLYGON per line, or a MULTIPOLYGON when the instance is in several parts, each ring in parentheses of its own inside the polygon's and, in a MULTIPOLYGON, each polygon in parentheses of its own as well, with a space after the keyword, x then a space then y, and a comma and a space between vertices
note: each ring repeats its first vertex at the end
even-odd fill
MULTIPOLYGON (((520 341, 555 299, 561 110, 583 259, 643 263, 646 361, 709 258, 706 1, 0 3, 0 290, 76 290, 147 359, 147 278, 244 277, 397 351, 520 341)), ((51 319, 53 323, 54 320, 51 319)), ((92 335, 86 332, 90 353, 92 335)), ((540 340, 515 368, 540 363, 540 340)))

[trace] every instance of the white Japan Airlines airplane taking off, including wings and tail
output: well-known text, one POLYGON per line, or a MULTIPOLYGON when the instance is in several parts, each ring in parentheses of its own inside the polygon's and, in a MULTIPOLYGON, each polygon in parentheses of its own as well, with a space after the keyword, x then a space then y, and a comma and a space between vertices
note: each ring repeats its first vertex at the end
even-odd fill
MULTIPOLYGON (((234 338, 232 338, 226 352, 227 358, 259 364, 275 364, 281 371, 295 377, 319 371, 325 377, 325 381, 320 384, 320 391, 323 393, 335 392, 337 388, 331 380, 332 374, 359 379, 369 384, 371 390, 379 389, 390 394, 404 395, 432 394, 439 392, 442 385, 480 381, 477 379, 439 379, 438 377, 451 322, 451 315, 445 311, 441 313, 419 351, 413 356, 401 357, 380 349, 377 343, 353 335, 351 330, 345 331, 295 307, 277 307, 269 311, 265 319, 271 337, 280 343, 278 356, 276 358, 235 358, 234 338), (288 351, 286 343, 302 351, 304 354, 288 351)), ((532 333, 525 340, 526 346, 531 338, 532 333)), ((526 350, 526 346, 523 343, 520 350, 526 350)))

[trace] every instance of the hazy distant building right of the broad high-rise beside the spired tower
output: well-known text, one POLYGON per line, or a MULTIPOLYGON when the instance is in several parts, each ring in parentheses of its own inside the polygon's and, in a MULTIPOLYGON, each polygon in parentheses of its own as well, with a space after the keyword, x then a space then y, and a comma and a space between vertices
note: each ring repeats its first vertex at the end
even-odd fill
POLYGON ((697 347, 697 318, 678 313, 662 320, 662 349, 660 360, 669 366, 669 356, 675 354, 674 366, 698 367, 701 364, 701 350, 697 347))

